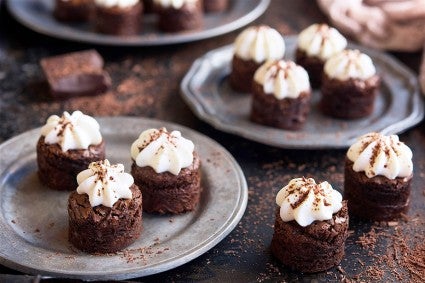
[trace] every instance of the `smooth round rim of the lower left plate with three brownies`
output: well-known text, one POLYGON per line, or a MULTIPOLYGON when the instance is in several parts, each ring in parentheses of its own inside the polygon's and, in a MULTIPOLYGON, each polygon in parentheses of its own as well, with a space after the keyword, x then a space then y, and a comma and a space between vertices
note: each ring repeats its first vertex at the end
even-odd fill
MULTIPOLYGON (((197 136, 197 138, 200 138, 201 140, 206 140, 211 145, 213 145, 215 149, 218 149, 221 154, 225 155, 225 158, 231 162, 231 166, 235 170, 235 173, 236 173, 235 175, 237 176, 237 182, 240 184, 237 205, 232 207, 232 211, 230 215, 226 219, 224 219, 224 221, 221 223, 222 225, 216 231, 214 231, 214 233, 212 233, 211 235, 209 235, 208 237, 202 239, 202 241, 197 243, 195 247, 185 251, 182 255, 171 256, 170 258, 163 260, 154 266, 150 266, 149 268, 144 268, 144 266, 140 266, 140 268, 138 268, 137 270, 135 270, 135 268, 131 268, 131 270, 125 269, 121 271, 121 273, 114 272, 114 271, 84 272, 84 270, 81 270, 80 273, 58 272, 57 270, 55 271, 52 268, 49 269, 46 267, 44 269, 41 269, 41 268, 35 267, 34 264, 25 265, 25 264, 22 264, 21 262, 11 260, 10 258, 8 258, 7 254, 3 253, 3 251, 0 252, 0 264, 7 266, 9 268, 24 272, 24 273, 30 273, 30 274, 41 273, 43 274, 43 276, 53 276, 58 278, 74 278, 74 279, 84 279, 84 280, 110 280, 110 279, 116 280, 116 279, 129 279, 129 278, 135 278, 135 277, 143 277, 143 276, 157 274, 160 272, 164 272, 164 271, 176 268, 178 266, 188 263, 189 261, 201 256, 202 254, 206 253, 211 248, 213 248, 215 245, 217 245, 219 242, 221 242, 238 225, 247 207, 248 185, 239 163, 230 154, 230 152, 228 152, 227 149, 225 149, 218 142, 186 126, 183 126, 174 122, 163 121, 160 119, 151 119, 151 118, 144 118, 144 117, 129 117, 129 116, 95 117, 95 119, 101 125, 108 123, 108 121, 117 121, 117 120, 118 121, 134 120, 137 122, 140 122, 141 120, 143 120, 143 123, 151 123, 153 121, 154 123, 161 123, 165 125, 166 127, 178 129, 186 133, 189 132, 191 135, 195 135, 197 136)), ((40 127, 31 129, 15 137, 8 139, 7 141, 0 144, 0 151, 4 150, 4 148, 7 148, 13 143, 20 141, 22 138, 24 138, 27 135, 38 133, 39 130, 40 130, 40 127)), ((35 154, 35 147, 34 149, 29 150, 29 152, 32 152, 35 154)), ((207 162, 204 162, 204 163, 208 164, 207 162)), ((4 171, 6 170, 7 170, 7 163, 1 162, 0 176, 2 176, 4 174, 4 171)), ((3 177, 1 181, 2 182, 4 181, 3 177)), ((2 187, 3 187, 3 184, 1 184, 0 193, 2 193, 3 191, 2 187)), ((1 213, 0 226, 8 225, 4 220, 5 219, 4 219, 3 213, 1 213)), ((37 248, 37 247, 34 247, 34 248, 37 248)))

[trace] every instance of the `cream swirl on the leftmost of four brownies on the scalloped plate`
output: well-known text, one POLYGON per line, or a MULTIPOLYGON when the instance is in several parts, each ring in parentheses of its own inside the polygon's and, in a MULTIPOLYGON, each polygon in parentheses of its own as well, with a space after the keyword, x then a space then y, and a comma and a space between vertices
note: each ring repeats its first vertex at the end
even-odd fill
POLYGON ((275 29, 266 26, 251 26, 235 40, 235 54, 244 60, 262 63, 268 59, 281 59, 285 54, 285 41, 275 29))

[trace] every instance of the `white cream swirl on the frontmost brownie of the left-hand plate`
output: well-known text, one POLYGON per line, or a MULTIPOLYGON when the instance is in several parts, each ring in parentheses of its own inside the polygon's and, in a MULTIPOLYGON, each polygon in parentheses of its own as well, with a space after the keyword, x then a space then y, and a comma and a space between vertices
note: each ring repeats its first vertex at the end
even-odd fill
POLYGON ((133 177, 124 172, 124 165, 111 165, 107 159, 92 162, 89 168, 77 175, 77 193, 87 194, 92 207, 112 207, 121 199, 131 199, 133 177))

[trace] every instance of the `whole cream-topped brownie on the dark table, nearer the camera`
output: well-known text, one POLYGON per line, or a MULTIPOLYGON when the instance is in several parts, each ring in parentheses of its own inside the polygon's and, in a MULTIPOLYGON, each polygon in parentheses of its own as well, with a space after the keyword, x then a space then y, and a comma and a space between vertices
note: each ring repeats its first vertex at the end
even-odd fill
POLYGON ((347 203, 328 182, 296 178, 276 196, 271 251, 287 267, 306 273, 338 265, 348 236, 347 203))

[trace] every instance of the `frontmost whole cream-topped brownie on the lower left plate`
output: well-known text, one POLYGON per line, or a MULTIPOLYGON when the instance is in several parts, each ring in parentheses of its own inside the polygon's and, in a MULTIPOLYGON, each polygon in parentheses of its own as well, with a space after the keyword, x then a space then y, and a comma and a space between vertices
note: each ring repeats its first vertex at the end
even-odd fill
POLYGON ((112 253, 142 232, 142 194, 124 165, 93 162, 68 198, 69 241, 88 253, 112 253))

